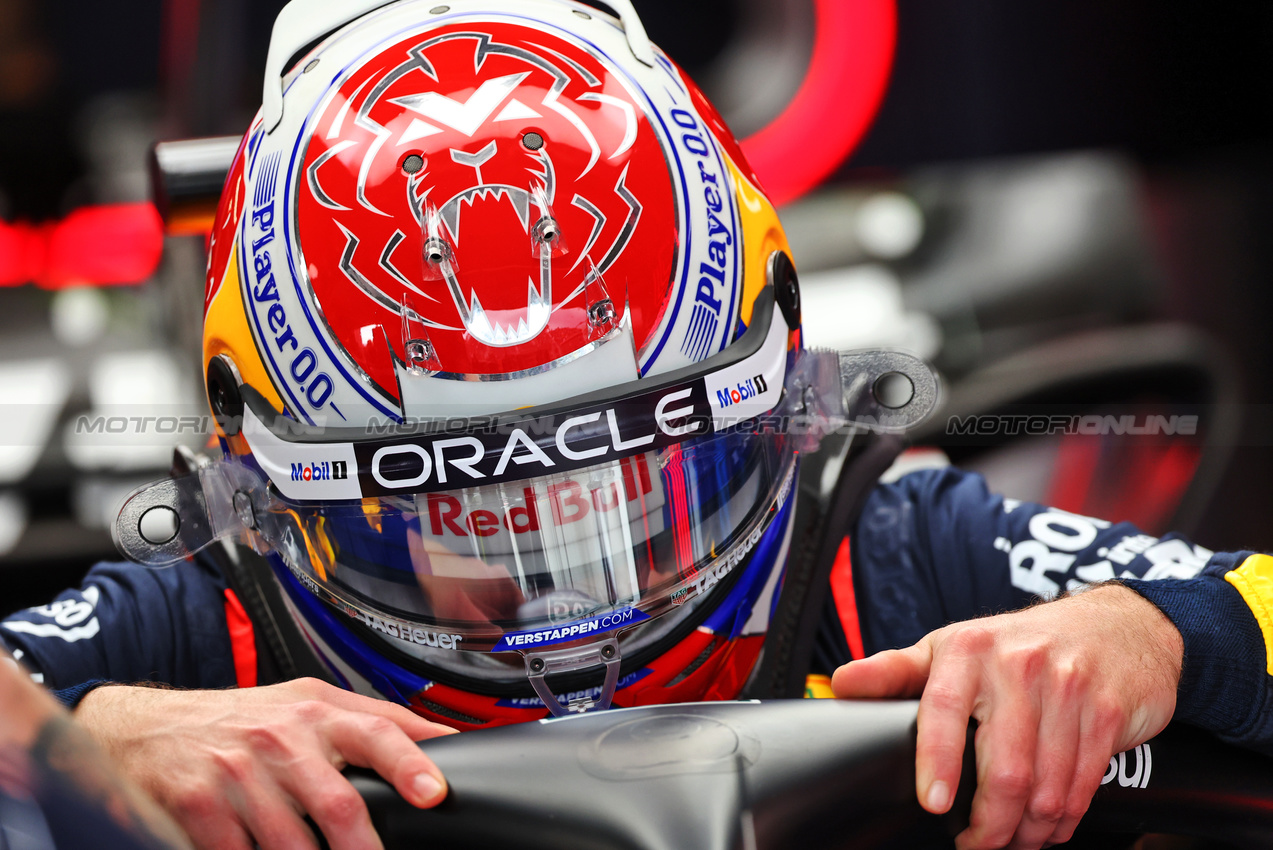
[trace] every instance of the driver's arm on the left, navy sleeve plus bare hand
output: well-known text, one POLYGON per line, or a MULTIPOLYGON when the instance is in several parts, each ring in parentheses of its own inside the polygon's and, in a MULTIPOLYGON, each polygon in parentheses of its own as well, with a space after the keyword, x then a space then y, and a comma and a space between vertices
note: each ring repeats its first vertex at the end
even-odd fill
POLYGON ((339 774, 345 763, 388 771, 411 802, 443 797, 411 786, 420 771, 437 775, 414 741, 449 729, 312 679, 232 688, 224 587, 199 561, 104 564, 48 606, 6 618, 0 639, 69 704, 83 696, 76 719, 200 847, 251 846, 234 844, 244 831, 266 849, 313 846, 298 811, 334 847, 377 846, 339 774), (93 679, 107 683, 84 696, 78 686, 93 679))

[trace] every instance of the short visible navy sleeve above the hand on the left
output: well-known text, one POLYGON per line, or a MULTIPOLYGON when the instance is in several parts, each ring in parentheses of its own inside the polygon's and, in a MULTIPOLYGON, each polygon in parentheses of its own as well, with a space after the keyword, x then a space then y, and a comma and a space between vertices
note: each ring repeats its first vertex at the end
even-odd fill
POLYGON ((236 683, 225 583, 210 564, 98 564, 81 587, 0 622, 0 643, 53 691, 93 679, 236 683))

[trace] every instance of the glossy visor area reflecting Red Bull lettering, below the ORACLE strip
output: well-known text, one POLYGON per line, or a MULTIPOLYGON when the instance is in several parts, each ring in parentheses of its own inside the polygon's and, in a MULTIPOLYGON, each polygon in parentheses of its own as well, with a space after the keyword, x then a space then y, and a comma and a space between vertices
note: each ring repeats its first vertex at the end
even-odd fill
POLYGON ((311 587, 420 626, 414 643, 429 646, 453 643, 435 634, 480 649, 631 608, 658 616, 769 520, 794 463, 785 443, 729 433, 514 484, 293 505, 276 548, 311 587))

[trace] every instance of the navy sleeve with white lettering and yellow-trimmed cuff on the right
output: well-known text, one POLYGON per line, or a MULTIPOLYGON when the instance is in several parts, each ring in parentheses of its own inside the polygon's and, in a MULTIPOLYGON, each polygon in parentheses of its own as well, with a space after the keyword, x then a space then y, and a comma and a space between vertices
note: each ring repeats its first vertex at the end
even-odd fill
POLYGON ((1256 564, 1263 556, 1213 554, 1179 534, 1157 538, 1129 523, 1004 499, 952 468, 878 486, 852 543, 868 653, 1120 579, 1184 639, 1175 719, 1273 755, 1273 559, 1256 564), (1253 579, 1246 592, 1226 580, 1248 570, 1269 580, 1253 579))

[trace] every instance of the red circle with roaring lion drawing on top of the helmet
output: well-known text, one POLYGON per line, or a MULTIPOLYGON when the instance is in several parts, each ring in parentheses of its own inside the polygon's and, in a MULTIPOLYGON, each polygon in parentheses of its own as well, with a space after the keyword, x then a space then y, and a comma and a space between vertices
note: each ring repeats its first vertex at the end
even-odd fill
POLYGON ((406 360, 420 327, 430 368, 458 374, 587 346, 601 293, 615 319, 630 312, 638 346, 653 331, 677 251, 671 177, 601 57, 516 24, 434 29, 358 67, 312 127, 304 267, 328 327, 387 394, 388 347, 406 360))

